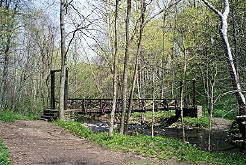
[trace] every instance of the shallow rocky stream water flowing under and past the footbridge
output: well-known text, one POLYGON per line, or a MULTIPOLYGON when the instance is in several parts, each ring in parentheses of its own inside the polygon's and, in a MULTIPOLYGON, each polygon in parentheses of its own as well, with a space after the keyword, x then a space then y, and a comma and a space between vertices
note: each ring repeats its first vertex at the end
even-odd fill
MULTIPOLYGON (((99 121, 91 118, 80 116, 77 121, 82 122, 83 126, 90 128, 93 132, 105 132, 108 131, 109 123, 105 121, 99 121)), ((116 128, 119 124, 115 125, 116 128)), ((155 136, 162 136, 167 138, 182 139, 182 128, 162 128, 156 126, 154 128, 155 136)), ((129 125, 129 134, 142 134, 151 135, 151 128, 148 125, 131 124, 129 125)), ((190 144, 198 146, 203 150, 208 148, 208 136, 209 132, 205 129, 192 128, 185 129, 186 141, 190 144)), ((239 149, 229 142, 230 137, 227 135, 226 130, 216 130, 211 133, 211 150, 212 151, 231 151, 238 152, 239 149)))

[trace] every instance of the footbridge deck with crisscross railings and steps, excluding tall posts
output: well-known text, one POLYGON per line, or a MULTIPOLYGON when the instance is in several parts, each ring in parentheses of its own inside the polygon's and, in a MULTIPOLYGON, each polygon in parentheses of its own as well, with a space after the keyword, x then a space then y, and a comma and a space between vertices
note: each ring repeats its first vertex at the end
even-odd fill
MULTIPOLYGON (((112 110, 112 99, 68 99, 67 109, 65 113, 79 114, 109 114, 112 110)), ((190 117, 197 116, 195 107, 184 106, 184 115, 190 117)), ((132 112, 147 112, 153 110, 152 99, 133 99, 132 112)), ((180 116, 181 111, 176 99, 155 99, 155 111, 175 110, 176 116, 180 116)), ((116 112, 122 111, 122 100, 118 99, 116 104, 116 112)), ((58 117, 58 109, 46 109, 42 118, 55 119, 58 117)))

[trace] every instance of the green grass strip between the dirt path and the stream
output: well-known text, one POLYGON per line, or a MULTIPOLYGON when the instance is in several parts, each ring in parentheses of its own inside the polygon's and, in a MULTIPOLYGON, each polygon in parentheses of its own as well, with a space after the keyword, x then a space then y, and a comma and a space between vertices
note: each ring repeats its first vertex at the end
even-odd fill
POLYGON ((55 121, 55 125, 70 130, 72 133, 97 142, 101 146, 124 152, 134 152, 143 156, 159 159, 178 159, 195 163, 213 163, 223 165, 245 165, 246 156, 242 153, 207 152, 183 143, 181 140, 156 136, 125 136, 107 133, 93 133, 89 128, 78 122, 55 121))

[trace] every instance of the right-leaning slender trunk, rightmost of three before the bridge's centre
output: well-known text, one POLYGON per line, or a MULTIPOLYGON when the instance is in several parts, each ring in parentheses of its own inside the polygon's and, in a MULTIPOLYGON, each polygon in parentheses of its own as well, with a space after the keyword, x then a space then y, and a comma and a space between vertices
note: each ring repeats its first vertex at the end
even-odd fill
POLYGON ((138 48, 137 48, 137 54, 136 54, 134 76, 133 76, 133 82, 132 82, 132 89, 131 89, 131 93, 130 93, 129 106, 128 106, 128 111, 127 111, 125 134, 128 133, 128 124, 129 124, 129 119, 131 117, 134 89, 135 89, 135 85, 136 85, 136 81, 137 81, 137 77, 138 77, 139 56, 140 56, 140 53, 142 51, 142 36, 143 36, 143 30, 144 30, 145 10, 146 10, 145 0, 142 0, 142 5, 141 5, 141 25, 140 25, 139 38, 138 38, 138 48))

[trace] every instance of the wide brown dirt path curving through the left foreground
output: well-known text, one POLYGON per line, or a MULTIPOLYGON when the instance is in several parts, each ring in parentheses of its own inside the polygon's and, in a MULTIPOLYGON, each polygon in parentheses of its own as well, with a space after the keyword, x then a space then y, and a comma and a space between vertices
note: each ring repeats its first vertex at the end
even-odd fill
POLYGON ((187 164, 110 151, 45 121, 0 122, 0 137, 10 149, 14 165, 187 164))

